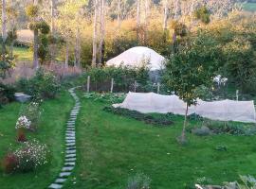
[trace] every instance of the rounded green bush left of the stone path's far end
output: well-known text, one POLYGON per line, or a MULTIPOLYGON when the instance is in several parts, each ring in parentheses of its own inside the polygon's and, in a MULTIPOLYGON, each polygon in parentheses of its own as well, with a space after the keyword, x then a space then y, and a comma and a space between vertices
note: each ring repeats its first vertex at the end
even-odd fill
POLYGON ((54 98, 60 92, 57 78, 50 72, 39 69, 34 77, 20 79, 17 88, 36 99, 54 98))

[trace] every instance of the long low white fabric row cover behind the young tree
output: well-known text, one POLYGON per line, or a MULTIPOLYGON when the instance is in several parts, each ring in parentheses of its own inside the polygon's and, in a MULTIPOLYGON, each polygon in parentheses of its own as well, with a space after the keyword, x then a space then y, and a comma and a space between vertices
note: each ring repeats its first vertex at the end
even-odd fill
MULTIPOLYGON (((168 113, 184 115, 186 103, 177 95, 162 95, 155 93, 127 94, 121 104, 115 108, 123 108, 142 113, 168 113)), ((255 108, 253 101, 222 100, 206 102, 198 99, 196 106, 189 108, 189 114, 196 113, 202 117, 220 121, 237 121, 255 123, 255 108)))

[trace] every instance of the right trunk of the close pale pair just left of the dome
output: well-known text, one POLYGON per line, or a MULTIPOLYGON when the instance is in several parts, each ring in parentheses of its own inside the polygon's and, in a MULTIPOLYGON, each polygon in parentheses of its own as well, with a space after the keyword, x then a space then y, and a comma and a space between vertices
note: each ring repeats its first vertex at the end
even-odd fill
POLYGON ((102 47, 105 38, 105 0, 101 0, 101 41, 99 45, 99 63, 102 63, 102 47))

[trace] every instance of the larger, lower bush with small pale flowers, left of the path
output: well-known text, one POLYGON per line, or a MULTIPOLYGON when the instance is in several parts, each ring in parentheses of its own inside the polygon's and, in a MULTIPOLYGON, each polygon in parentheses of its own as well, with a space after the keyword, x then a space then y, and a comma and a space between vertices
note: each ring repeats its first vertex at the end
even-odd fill
POLYGON ((24 143, 24 146, 21 146, 13 153, 17 157, 17 170, 28 172, 46 164, 47 152, 46 145, 41 145, 36 140, 24 143))

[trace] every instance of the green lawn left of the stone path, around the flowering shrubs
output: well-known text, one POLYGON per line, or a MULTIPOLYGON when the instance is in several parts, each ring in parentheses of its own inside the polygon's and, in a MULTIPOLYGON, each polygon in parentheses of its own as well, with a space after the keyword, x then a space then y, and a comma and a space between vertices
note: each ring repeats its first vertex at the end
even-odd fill
MULTIPOLYGON (((39 168, 34 173, 4 175, 0 171, 0 188, 4 189, 34 189, 46 188, 53 181, 63 165, 64 125, 73 106, 73 100, 66 92, 61 97, 48 100, 43 104, 42 122, 37 133, 29 134, 29 138, 37 138, 49 146, 51 162, 39 168)), ((15 143, 15 122, 20 104, 11 103, 0 110, 0 158, 9 149, 9 144, 15 143)))

